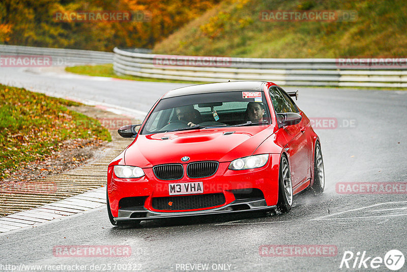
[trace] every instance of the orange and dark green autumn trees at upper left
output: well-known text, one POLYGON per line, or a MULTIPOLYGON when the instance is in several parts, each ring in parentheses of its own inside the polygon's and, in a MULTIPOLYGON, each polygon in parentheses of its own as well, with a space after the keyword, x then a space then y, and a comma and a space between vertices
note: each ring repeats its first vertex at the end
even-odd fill
POLYGON ((0 43, 111 51, 151 48, 219 0, 2 0, 0 43), (56 20, 62 12, 125 11, 132 20, 56 20), (143 17, 143 15, 146 15, 143 17))

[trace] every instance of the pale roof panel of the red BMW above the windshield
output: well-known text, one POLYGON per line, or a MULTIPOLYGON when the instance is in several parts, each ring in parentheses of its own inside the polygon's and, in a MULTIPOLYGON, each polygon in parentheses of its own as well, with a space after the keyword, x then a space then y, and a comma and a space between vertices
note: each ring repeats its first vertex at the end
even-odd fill
POLYGON ((263 91, 261 86, 267 81, 242 80, 222 83, 207 83, 174 89, 166 93, 162 98, 183 96, 189 94, 203 94, 231 91, 263 91))

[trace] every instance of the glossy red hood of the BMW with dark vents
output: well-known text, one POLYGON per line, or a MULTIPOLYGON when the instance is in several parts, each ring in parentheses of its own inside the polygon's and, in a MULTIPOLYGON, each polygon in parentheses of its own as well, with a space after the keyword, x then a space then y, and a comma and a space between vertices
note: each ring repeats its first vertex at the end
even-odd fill
POLYGON ((127 147, 125 164, 141 168, 200 160, 231 161, 250 156, 273 134, 273 125, 183 130, 137 135, 127 147), (232 133, 231 133, 232 132, 232 133), (167 139, 168 138, 168 139, 167 139))

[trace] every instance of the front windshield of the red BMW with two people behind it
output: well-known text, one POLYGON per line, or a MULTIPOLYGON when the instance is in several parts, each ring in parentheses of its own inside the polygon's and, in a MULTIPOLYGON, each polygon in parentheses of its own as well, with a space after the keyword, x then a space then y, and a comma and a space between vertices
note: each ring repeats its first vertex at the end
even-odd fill
POLYGON ((140 134, 236 125, 267 125, 264 92, 234 91, 162 99, 140 134))

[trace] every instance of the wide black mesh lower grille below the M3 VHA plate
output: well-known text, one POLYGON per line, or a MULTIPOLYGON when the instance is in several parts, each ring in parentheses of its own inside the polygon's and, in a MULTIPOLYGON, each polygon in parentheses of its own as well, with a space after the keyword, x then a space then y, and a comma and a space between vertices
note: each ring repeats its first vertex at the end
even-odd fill
POLYGON ((153 208, 157 210, 192 210, 222 205, 226 202, 222 193, 193 196, 153 198, 153 208))

